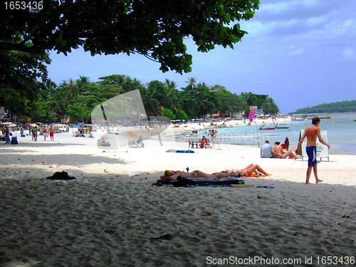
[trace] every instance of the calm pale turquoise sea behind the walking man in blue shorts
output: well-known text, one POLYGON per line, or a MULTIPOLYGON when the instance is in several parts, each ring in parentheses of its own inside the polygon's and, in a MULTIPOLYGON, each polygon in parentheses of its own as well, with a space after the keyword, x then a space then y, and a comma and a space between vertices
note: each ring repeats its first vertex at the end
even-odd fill
MULTIPOLYGON (((325 114, 324 114, 325 115, 325 114)), ((331 145, 330 153, 345 153, 356 155, 356 112, 330 113, 330 119, 322 119, 320 130, 326 130, 328 143, 331 145)), ((242 122, 239 122, 241 125, 242 122)), ((288 129, 258 130, 259 125, 252 122, 251 126, 225 127, 218 130, 221 143, 234 145, 263 145, 265 140, 271 144, 276 141, 284 142, 288 137, 290 146, 297 145, 301 129, 311 125, 311 120, 278 122, 279 126, 288 126, 288 129)), ((265 125, 273 127, 273 125, 265 125)), ((200 134, 207 134, 201 132, 200 134)), ((291 147, 293 149, 293 147, 291 147)))

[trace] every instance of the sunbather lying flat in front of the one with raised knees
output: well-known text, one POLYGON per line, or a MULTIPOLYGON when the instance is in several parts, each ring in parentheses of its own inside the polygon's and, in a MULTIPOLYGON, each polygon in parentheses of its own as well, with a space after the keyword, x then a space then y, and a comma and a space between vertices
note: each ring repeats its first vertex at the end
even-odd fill
POLYGON ((199 170, 195 170, 193 172, 181 172, 181 171, 170 171, 166 170, 164 175, 161 175, 161 179, 157 182, 169 182, 169 180, 177 179, 177 177, 182 176, 184 178, 222 178, 228 176, 237 177, 239 174, 236 172, 214 172, 212 174, 208 174, 206 172, 201 172, 199 170))

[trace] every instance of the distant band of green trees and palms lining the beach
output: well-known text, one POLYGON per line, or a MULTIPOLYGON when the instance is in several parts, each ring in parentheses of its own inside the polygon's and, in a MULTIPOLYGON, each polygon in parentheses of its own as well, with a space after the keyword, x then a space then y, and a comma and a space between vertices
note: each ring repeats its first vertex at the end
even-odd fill
MULTIPOLYGON (((140 90, 147 115, 164 115, 172 120, 206 117, 216 112, 229 114, 248 109, 246 94, 236 95, 221 85, 194 83, 189 85, 189 90, 187 87, 178 90, 171 80, 152 80, 147 85, 142 85, 136 78, 109 75, 96 83, 90 82, 85 76, 80 76, 77 80, 63 80, 58 86, 52 85, 41 90, 33 96, 33 101, 26 102, 20 110, 24 110, 22 117, 30 117, 32 122, 63 122, 70 116, 71 122, 89 123, 91 112, 96 106, 132 90, 140 90)), ((253 95, 265 100, 262 107, 266 110, 270 106, 276 106, 268 95, 253 95)), ((127 109, 130 110, 130 107, 127 109)), ((116 112, 115 108, 112 112, 116 112)), ((268 112, 275 114, 272 109, 268 112)), ((110 117, 110 114, 106 115, 110 117)))

